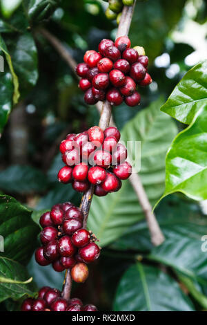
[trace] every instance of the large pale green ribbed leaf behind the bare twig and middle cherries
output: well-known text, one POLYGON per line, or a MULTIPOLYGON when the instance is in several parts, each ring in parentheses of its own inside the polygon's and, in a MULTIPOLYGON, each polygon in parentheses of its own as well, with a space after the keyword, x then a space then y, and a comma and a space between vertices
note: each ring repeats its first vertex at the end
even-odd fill
MULTIPOLYGON (((121 132, 121 140, 141 141, 142 183, 152 204, 164 191, 166 151, 177 133, 177 127, 168 115, 161 113, 162 101, 157 100, 137 113, 121 132)), ((130 151, 128 151, 130 156, 130 151)), ((144 218, 137 196, 128 180, 117 193, 92 199, 88 228, 100 240, 101 246, 119 238, 130 225, 144 218)))

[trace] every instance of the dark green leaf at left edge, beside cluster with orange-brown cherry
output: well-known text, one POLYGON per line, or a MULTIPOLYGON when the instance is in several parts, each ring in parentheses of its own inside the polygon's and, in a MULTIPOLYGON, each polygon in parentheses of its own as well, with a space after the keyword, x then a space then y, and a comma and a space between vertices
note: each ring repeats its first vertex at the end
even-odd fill
POLYGON ((22 263, 30 259, 39 233, 31 213, 14 198, 0 196, 0 234, 4 239, 5 257, 22 263))

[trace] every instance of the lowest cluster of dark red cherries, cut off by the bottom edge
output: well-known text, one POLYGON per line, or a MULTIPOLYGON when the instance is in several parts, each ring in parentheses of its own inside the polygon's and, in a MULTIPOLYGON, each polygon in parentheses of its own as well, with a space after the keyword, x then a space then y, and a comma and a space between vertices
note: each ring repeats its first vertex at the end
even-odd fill
POLYGON ((91 304, 83 306, 79 298, 67 301, 61 297, 59 290, 44 286, 39 290, 37 299, 23 301, 21 311, 97 311, 97 307, 91 304))

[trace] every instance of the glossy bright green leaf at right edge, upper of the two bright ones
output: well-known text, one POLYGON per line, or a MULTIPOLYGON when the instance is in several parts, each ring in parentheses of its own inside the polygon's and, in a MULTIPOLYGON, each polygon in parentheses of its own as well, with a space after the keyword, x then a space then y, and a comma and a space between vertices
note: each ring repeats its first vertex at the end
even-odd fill
POLYGON ((207 60, 190 69, 172 91, 161 111, 190 124, 207 102, 207 60))

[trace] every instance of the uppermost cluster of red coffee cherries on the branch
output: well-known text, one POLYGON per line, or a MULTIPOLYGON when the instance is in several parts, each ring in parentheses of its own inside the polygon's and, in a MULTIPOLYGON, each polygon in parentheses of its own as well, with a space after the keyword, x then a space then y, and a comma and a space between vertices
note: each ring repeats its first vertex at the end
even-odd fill
POLYGON ((152 78, 148 73, 148 57, 144 48, 130 48, 130 39, 118 37, 115 43, 102 39, 99 52, 86 51, 84 62, 77 65, 76 72, 81 80, 79 88, 85 92, 87 104, 108 100, 118 106, 123 101, 128 106, 137 106, 141 96, 138 86, 148 86, 152 78))

